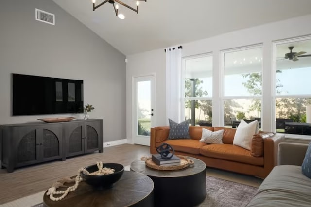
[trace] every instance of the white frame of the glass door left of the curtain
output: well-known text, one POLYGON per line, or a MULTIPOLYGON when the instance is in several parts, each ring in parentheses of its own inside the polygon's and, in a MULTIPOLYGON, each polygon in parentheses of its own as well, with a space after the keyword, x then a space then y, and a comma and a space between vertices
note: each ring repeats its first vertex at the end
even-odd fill
POLYGON ((154 115, 151 116, 151 127, 155 127, 156 123, 156 109, 155 109, 155 74, 143 75, 143 76, 135 76, 132 77, 132 142, 134 144, 141 144, 150 146, 150 136, 138 135, 138 103, 137 103, 137 82, 150 80, 150 90, 151 90, 151 113, 154 115))

